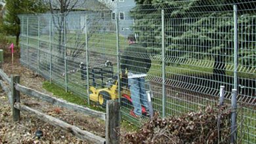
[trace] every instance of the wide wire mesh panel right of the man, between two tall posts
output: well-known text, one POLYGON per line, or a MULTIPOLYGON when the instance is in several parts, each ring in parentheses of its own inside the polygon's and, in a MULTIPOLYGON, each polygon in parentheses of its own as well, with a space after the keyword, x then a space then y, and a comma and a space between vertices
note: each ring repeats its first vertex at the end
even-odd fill
POLYGON ((230 96, 233 77, 225 73, 232 73, 233 40, 225 37, 232 37, 232 21, 232 17, 166 20, 169 27, 166 31, 169 33, 168 43, 165 44, 167 92, 170 92, 171 105, 176 102, 181 105, 179 113, 198 109, 198 106, 213 105, 220 86, 226 86, 227 97, 230 96), (226 21, 230 23, 222 26, 226 21), (215 29, 222 35, 213 35, 208 29, 215 29))

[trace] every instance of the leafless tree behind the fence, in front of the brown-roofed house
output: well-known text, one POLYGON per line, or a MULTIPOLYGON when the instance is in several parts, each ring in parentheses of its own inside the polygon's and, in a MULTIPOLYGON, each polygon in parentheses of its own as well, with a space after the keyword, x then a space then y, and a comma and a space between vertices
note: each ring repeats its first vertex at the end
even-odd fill
MULTIPOLYGON (((91 12, 89 20, 87 20, 87 26, 96 26, 99 25, 96 29, 91 31, 88 35, 88 41, 90 37, 94 35, 97 29, 102 29, 100 27, 100 23, 102 23, 101 14, 104 13, 110 19, 111 15, 111 3, 104 3, 103 1, 96 1, 96 0, 47 0, 49 3, 49 8, 51 10, 51 14, 53 17, 53 25, 56 29, 57 37, 55 37, 56 41, 58 41, 57 46, 57 54, 58 54, 58 62, 63 63, 64 60, 64 44, 65 44, 65 37, 66 33, 68 33, 68 23, 65 23, 65 18, 72 12, 77 10, 89 11, 91 12), (107 6, 106 6, 107 5, 107 6), (64 27, 66 26, 66 27, 64 27), (66 33, 64 33, 66 31, 66 33)), ((74 17, 78 17, 77 14, 74 17)), ((69 16, 71 17, 71 16, 69 16)), ((82 17, 82 16, 81 16, 82 17)), ((84 17, 85 18, 85 17, 84 17)), ((107 21, 107 20, 106 20, 107 21)), ((112 22, 108 22, 112 23, 112 22)), ((106 22, 105 24, 106 25, 106 22)), ((111 25, 111 24, 107 24, 111 25)), ((85 23, 83 26, 80 27, 79 30, 74 31, 72 35, 68 35, 70 41, 74 41, 72 43, 72 48, 68 48, 66 51, 66 56, 68 56, 68 60, 70 62, 74 62, 75 58, 81 56, 83 52, 85 52, 85 39, 81 37, 83 32, 85 31, 85 23)))

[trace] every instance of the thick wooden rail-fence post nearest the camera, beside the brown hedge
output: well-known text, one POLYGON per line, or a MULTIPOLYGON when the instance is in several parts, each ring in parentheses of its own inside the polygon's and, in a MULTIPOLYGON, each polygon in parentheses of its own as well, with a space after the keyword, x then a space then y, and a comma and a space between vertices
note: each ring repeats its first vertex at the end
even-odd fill
POLYGON ((120 103, 118 101, 107 101, 106 107, 106 143, 115 144, 120 142, 120 103))

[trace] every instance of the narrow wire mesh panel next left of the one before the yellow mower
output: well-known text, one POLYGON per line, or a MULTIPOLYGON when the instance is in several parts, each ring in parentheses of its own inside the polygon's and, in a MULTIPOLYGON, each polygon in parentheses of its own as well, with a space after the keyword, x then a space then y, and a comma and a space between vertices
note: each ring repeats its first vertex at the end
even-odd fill
POLYGON ((66 18, 66 54, 68 90, 87 96, 86 81, 81 79, 81 63, 86 63, 85 15, 71 14, 66 18))

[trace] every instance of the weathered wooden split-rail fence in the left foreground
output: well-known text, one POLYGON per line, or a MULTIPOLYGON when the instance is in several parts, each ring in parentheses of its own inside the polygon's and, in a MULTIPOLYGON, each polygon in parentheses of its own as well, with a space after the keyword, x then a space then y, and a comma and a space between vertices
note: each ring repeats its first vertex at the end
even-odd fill
POLYGON ((62 99, 53 98, 51 96, 48 96, 47 94, 37 92, 32 88, 22 86, 19 84, 20 77, 18 75, 11 75, 11 79, 9 79, 7 74, 5 74, 2 69, 0 69, 0 77, 7 80, 8 84, 10 84, 11 87, 8 88, 9 86, 5 86, 4 82, 0 80, 1 87, 7 93, 9 102, 11 104, 12 117, 14 121, 20 120, 20 111, 26 111, 35 115, 40 120, 43 120, 44 122, 61 128, 62 130, 66 130, 66 132, 69 132, 75 137, 78 137, 79 139, 82 139, 89 143, 119 143, 120 112, 119 103, 117 101, 108 101, 106 113, 101 113, 87 107, 81 107, 80 105, 69 103, 68 101, 64 101, 62 99), (72 111, 83 113, 84 115, 89 115, 91 117, 106 120, 106 139, 98 135, 92 134, 91 132, 81 130, 76 126, 59 120, 58 118, 51 117, 50 115, 46 115, 44 113, 41 113, 40 111, 37 111, 35 109, 32 109, 31 107, 22 104, 20 102, 20 92, 31 96, 32 98, 41 99, 42 101, 46 101, 58 107, 70 109, 72 111))

